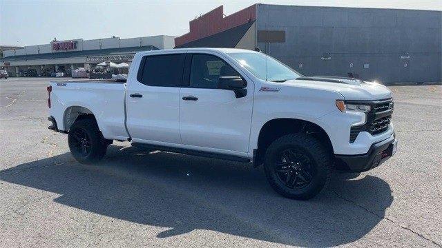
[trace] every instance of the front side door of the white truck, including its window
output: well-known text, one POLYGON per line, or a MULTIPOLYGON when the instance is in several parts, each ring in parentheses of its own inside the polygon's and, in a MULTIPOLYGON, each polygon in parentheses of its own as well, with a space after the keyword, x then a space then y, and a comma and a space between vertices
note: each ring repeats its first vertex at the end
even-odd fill
POLYGON ((213 54, 188 53, 184 73, 180 90, 182 143, 204 147, 207 152, 248 152, 253 82, 247 82, 247 96, 242 98, 236 98, 231 90, 218 89, 220 76, 241 75, 213 54))

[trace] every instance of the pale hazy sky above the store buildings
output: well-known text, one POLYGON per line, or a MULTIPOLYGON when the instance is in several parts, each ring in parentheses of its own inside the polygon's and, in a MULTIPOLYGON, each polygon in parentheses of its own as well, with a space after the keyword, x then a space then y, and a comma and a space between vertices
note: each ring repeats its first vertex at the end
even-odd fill
POLYGON ((254 3, 442 10, 442 0, 11 1, 0 0, 0 45, 58 40, 180 36, 189 21, 223 5, 229 15, 254 3))

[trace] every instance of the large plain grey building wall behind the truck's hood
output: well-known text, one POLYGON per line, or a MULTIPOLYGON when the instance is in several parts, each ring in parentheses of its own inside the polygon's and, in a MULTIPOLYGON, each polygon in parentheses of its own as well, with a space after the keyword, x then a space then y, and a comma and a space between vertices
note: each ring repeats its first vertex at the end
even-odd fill
POLYGON ((283 30, 285 42, 258 47, 307 75, 382 82, 441 81, 441 12, 257 6, 258 30, 283 30))

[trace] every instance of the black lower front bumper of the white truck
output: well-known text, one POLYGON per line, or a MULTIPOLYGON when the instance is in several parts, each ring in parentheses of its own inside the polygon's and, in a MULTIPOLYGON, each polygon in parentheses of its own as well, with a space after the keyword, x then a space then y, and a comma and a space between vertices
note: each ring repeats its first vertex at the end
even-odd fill
POLYGON ((378 167, 396 152, 397 140, 394 135, 374 143, 366 154, 335 155, 336 169, 344 172, 365 172, 378 167))

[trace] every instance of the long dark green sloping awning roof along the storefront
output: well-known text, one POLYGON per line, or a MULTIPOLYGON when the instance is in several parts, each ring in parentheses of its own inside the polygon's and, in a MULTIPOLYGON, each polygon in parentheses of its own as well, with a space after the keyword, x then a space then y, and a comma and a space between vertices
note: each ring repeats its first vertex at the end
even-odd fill
POLYGON ((132 48, 109 48, 101 50, 83 50, 74 52, 52 52, 46 54, 28 54, 28 55, 17 55, 17 56, 7 56, 0 61, 26 61, 31 59, 64 59, 72 57, 81 56, 99 56, 99 55, 111 55, 111 54, 124 54, 124 53, 135 53, 146 50, 158 50, 153 45, 145 45, 140 47, 132 48))

